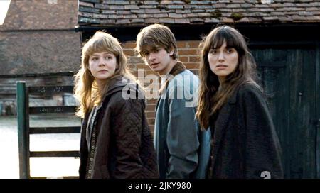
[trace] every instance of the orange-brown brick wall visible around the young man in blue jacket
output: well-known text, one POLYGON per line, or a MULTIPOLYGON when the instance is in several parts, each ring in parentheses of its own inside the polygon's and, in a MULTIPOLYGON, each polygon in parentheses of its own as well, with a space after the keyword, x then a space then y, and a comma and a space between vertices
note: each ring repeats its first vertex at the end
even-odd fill
MULTIPOLYGON (((198 56, 198 45, 200 41, 178 41, 178 58, 181 60, 188 70, 191 70, 193 73, 198 75, 198 67, 200 62, 200 57, 198 56)), ((134 42, 126 42, 122 43, 122 47, 124 48, 124 53, 128 57, 128 65, 131 72, 137 76, 138 70, 144 70, 144 77, 146 75, 151 75, 155 73, 147 66, 144 65, 144 61, 137 57, 134 53, 135 43, 134 42)), ((138 76, 137 76, 138 77, 138 76)), ((149 82, 144 82, 144 87, 149 85, 149 82)), ((159 83, 159 82, 158 82, 159 83)), ((146 117, 149 122, 149 126, 151 131, 154 130, 154 118, 155 118, 155 109, 156 109, 156 99, 148 99, 149 96, 146 96, 146 117)))

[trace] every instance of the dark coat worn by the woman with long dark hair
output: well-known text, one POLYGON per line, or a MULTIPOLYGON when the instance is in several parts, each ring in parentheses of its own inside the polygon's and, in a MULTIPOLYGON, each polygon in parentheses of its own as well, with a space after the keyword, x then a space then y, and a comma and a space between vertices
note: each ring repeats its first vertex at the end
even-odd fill
POLYGON ((255 85, 241 85, 220 109, 211 129, 210 178, 283 177, 279 139, 255 85))

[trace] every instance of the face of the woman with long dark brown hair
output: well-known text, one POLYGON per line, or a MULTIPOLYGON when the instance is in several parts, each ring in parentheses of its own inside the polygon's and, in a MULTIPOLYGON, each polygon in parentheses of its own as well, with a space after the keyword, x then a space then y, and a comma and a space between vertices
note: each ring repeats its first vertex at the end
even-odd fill
POLYGON ((220 82, 235 70, 238 60, 237 50, 235 48, 227 48, 225 42, 220 48, 210 49, 208 52, 210 70, 218 76, 220 82))

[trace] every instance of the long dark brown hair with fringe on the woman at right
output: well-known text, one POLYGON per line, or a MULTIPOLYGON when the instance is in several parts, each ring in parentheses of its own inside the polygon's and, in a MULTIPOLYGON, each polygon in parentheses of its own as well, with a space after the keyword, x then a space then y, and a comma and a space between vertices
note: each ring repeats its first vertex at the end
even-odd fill
POLYGON ((201 83, 196 117, 201 128, 207 129, 210 126, 210 117, 217 115, 237 87, 250 83, 259 89, 261 88, 257 84, 255 60, 247 48, 245 38, 235 28, 230 26, 215 28, 206 38, 203 38, 201 47, 201 67, 199 70, 201 83), (223 87, 220 87, 218 76, 210 70, 208 53, 210 49, 220 48, 224 42, 228 48, 237 50, 239 58, 237 67, 225 78, 223 85, 221 85, 223 87))

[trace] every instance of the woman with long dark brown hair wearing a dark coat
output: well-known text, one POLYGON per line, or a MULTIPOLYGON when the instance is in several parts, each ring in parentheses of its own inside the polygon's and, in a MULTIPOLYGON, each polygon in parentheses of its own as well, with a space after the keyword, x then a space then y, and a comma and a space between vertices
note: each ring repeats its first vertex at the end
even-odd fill
POLYGON ((230 26, 203 41, 196 116, 211 129, 209 178, 282 178, 281 149, 245 38, 230 26))

